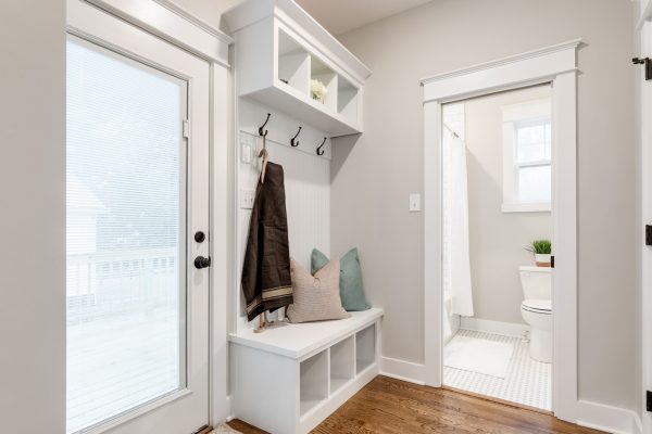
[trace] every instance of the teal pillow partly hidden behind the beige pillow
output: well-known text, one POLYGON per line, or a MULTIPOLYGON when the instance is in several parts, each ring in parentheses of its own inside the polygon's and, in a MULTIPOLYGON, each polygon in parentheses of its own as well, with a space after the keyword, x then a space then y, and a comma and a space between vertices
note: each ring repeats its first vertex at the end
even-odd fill
MULTIPOLYGON (((328 257, 318 250, 313 248, 311 263, 311 271, 314 275, 328 264, 328 257)), ((350 250, 340 259, 340 298, 342 299, 342 307, 349 311, 366 310, 372 307, 364 296, 358 248, 350 250)))

